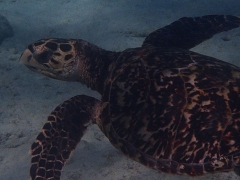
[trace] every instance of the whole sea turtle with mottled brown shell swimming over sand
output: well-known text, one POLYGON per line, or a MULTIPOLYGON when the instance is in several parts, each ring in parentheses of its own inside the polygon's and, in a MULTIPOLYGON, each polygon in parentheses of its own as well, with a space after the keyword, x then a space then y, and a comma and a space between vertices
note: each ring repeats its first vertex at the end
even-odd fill
POLYGON ((141 47, 111 52, 82 39, 41 39, 20 61, 102 95, 56 107, 31 146, 30 176, 60 179, 87 126, 97 124, 127 157, 173 174, 240 175, 240 68, 189 49, 240 26, 240 17, 183 17, 141 47))

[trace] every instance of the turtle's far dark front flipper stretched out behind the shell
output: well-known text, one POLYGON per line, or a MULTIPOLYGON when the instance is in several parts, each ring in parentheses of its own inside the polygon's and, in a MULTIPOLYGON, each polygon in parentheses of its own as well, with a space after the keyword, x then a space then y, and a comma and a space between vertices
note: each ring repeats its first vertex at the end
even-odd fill
POLYGON ((183 17, 150 33, 142 46, 190 49, 217 33, 239 26, 240 17, 231 15, 183 17))

